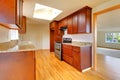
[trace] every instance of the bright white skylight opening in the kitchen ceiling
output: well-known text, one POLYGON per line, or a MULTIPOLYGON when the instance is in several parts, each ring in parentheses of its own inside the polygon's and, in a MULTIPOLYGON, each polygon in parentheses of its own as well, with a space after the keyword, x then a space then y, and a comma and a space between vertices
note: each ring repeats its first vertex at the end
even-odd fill
POLYGON ((33 17, 38 19, 53 20, 61 12, 61 10, 36 3, 33 17))

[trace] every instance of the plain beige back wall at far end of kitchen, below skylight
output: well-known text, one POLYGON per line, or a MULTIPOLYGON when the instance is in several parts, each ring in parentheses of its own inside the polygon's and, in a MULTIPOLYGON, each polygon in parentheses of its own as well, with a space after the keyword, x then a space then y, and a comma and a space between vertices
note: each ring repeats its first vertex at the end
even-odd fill
POLYGON ((49 25, 27 23, 26 34, 21 34, 20 40, 31 41, 36 49, 49 49, 49 25))

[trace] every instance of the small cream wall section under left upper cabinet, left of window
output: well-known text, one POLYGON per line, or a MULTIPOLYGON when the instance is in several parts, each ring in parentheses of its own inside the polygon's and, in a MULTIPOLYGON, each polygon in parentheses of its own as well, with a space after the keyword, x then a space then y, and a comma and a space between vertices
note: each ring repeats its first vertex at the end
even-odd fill
POLYGON ((0 26, 0 43, 10 41, 9 29, 0 26))

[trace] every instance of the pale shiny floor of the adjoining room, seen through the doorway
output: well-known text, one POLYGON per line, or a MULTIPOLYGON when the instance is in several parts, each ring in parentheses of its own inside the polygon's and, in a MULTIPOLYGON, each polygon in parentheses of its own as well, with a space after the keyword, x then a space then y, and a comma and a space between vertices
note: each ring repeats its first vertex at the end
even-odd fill
POLYGON ((120 58, 97 54, 97 59, 97 72, 100 75, 107 80, 120 80, 120 58))

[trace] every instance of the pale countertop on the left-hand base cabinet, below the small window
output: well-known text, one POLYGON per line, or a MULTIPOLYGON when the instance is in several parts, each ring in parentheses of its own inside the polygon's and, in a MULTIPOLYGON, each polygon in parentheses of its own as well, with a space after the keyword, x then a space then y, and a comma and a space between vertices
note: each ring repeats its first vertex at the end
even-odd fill
POLYGON ((31 50, 35 50, 35 46, 33 44, 31 44, 31 43, 27 43, 27 44, 20 43, 20 44, 16 44, 14 47, 8 47, 6 49, 1 48, 0 53, 16 52, 16 51, 31 51, 31 50))

